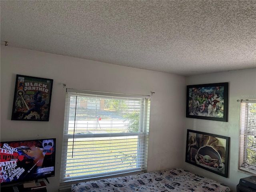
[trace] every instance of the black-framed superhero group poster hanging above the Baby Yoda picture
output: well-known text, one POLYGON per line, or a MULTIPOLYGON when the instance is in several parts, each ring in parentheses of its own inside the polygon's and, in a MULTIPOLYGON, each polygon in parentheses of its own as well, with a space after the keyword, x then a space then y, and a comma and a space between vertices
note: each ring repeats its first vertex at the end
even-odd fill
POLYGON ((188 85, 186 117, 228 121, 228 83, 188 85))

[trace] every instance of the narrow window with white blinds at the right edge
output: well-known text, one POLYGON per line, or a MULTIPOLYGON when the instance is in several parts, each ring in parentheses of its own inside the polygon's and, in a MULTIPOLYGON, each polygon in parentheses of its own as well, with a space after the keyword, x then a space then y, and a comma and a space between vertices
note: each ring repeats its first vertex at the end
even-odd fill
POLYGON ((239 169, 256 174, 256 100, 242 100, 239 169))

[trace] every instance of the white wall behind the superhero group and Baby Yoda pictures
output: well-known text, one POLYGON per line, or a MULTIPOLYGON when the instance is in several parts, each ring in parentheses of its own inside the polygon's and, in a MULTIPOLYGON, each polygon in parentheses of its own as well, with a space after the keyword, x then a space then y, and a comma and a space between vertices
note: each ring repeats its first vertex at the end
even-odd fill
MULTIPOLYGON (((240 178, 250 176, 248 174, 238 172, 240 102, 237 102, 237 100, 256 99, 256 68, 190 76, 187 78, 188 85, 218 82, 229 83, 228 122, 186 118, 186 129, 184 134, 186 134, 187 129, 191 129, 230 137, 228 178, 205 171, 204 169, 198 168, 186 162, 183 163, 183 167, 208 178, 223 182, 230 186, 233 191, 236 191, 236 185, 239 183, 240 178)), ((186 139, 184 140, 184 143, 185 142, 186 139)), ((185 153, 183 159, 185 159, 185 153)))

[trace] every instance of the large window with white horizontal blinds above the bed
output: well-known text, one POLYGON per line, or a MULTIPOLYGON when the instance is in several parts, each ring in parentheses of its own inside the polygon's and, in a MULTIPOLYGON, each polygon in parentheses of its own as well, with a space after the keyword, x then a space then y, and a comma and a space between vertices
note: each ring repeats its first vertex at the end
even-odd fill
POLYGON ((150 98, 67 90, 60 182, 146 169, 150 98))

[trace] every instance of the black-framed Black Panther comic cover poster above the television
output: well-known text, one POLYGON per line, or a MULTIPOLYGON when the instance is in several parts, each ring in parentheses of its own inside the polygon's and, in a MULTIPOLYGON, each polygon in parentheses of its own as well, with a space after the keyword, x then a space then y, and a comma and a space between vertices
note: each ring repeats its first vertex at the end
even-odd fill
POLYGON ((16 75, 12 120, 49 121, 52 79, 16 75))

